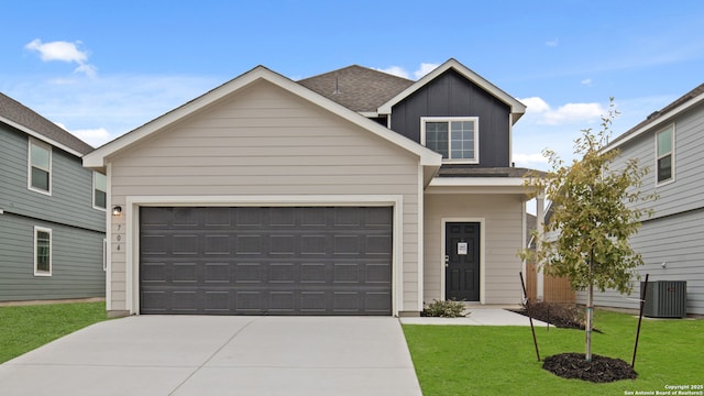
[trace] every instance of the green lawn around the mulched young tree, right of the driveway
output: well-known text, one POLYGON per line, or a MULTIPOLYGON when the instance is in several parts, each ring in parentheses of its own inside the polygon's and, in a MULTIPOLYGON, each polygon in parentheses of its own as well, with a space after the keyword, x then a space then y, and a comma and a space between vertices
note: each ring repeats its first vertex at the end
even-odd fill
MULTIPOLYGON (((597 310, 594 324, 603 333, 593 334, 592 353, 630 364, 638 318, 597 310)), ((609 384, 564 380, 542 370, 529 327, 406 324, 404 332, 426 396, 654 394, 667 392, 666 385, 704 384, 704 320, 644 318, 638 378, 609 384)), ((541 359, 584 353, 584 331, 540 327, 536 337, 541 359)))

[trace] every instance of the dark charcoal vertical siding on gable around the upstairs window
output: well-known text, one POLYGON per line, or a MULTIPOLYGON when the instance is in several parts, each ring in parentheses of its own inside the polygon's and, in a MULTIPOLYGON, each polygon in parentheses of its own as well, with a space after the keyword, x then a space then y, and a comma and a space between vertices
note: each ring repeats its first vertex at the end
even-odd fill
POLYGON ((503 167, 510 165, 509 112, 507 105, 448 70, 394 106, 392 129, 420 143, 421 117, 479 117, 479 166, 503 167))

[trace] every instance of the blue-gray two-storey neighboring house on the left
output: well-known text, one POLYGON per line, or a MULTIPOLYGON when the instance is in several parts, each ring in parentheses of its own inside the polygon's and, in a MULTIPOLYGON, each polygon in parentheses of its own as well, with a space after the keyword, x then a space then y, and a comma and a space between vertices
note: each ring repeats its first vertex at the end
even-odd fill
POLYGON ((103 174, 92 147, 0 94, 0 301, 105 296, 103 174))

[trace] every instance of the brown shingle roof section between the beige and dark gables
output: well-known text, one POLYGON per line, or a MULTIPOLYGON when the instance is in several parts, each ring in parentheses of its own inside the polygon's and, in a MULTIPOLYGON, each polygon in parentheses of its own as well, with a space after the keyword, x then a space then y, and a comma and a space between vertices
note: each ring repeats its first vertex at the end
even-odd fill
POLYGON ((375 112, 414 81, 371 68, 352 65, 305 78, 304 87, 356 112, 375 112))

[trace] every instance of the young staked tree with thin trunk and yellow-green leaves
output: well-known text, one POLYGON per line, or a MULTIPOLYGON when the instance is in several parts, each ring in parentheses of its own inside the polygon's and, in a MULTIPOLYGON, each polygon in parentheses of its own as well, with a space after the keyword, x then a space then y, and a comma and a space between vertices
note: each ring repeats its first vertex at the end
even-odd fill
POLYGON ((642 265, 642 258, 628 239, 637 232, 639 219, 650 215, 635 204, 654 199, 641 196, 641 178, 648 168, 639 168, 636 160, 610 167, 618 151, 604 147, 617 116, 612 98, 608 114, 602 116, 602 130, 582 130, 574 141, 574 154, 581 160, 565 166, 556 152, 544 150, 551 170, 526 179, 526 185, 544 191, 552 202, 552 217, 542 235, 552 231, 559 237, 554 241, 543 237, 535 252, 525 250, 520 255, 534 260, 547 274, 566 276, 573 289, 586 289, 586 361, 592 360, 594 288, 630 294, 634 268, 642 265))

